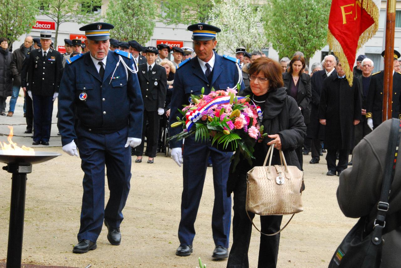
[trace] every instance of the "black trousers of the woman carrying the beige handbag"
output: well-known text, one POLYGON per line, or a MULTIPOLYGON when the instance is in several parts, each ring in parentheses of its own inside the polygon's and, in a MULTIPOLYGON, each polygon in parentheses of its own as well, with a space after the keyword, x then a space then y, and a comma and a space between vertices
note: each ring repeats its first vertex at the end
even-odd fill
MULTIPOLYGON (((234 188, 233 245, 227 261, 227 268, 249 268, 248 250, 251 240, 252 223, 245 211, 246 174, 241 175, 234 188)), ((249 212, 251 218, 255 214, 249 212)), ((273 234, 280 230, 283 216, 260 216, 261 231, 273 234)), ((280 242, 280 234, 260 235, 258 268, 275 268, 280 242)))

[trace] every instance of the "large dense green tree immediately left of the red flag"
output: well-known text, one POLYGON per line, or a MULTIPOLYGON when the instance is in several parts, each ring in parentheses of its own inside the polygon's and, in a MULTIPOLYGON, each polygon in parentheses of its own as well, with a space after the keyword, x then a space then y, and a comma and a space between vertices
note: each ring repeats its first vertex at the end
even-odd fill
POLYGON ((306 62, 327 40, 330 0, 269 0, 265 5, 264 28, 279 57, 304 53, 306 62))

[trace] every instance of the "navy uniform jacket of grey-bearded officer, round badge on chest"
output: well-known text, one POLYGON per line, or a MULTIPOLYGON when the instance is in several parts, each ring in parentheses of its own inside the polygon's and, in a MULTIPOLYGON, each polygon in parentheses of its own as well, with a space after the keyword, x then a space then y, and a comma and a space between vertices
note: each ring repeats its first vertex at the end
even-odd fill
MULTIPOLYGON (((121 57, 133 69, 132 56, 121 57)), ((118 61, 119 55, 109 51, 103 81, 89 52, 66 64, 59 91, 59 131, 63 146, 76 138, 75 107, 79 124, 87 131, 112 133, 128 126, 128 137, 141 139, 144 105, 138 76, 128 70, 127 80, 124 66, 119 62, 111 79, 118 61), (86 100, 81 100, 81 93, 86 93, 86 100)))

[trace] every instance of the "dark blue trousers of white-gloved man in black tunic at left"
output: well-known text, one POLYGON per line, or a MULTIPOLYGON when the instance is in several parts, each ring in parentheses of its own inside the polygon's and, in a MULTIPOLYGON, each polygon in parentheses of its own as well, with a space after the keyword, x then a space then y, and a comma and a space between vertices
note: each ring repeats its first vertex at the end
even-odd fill
POLYGON ((32 95, 33 103, 33 141, 49 141, 51 117, 53 115, 53 96, 32 95))

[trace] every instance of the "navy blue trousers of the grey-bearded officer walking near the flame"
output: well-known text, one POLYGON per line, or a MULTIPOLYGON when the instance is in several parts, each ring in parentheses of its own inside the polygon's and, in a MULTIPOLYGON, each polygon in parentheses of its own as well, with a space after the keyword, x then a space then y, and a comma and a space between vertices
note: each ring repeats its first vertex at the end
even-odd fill
POLYGON ((78 139, 83 177, 81 227, 78 241, 89 239, 96 242, 103 224, 119 228, 130 191, 131 150, 125 148, 128 127, 109 134, 91 133, 78 126, 78 139), (104 175, 107 168, 109 201, 104 207, 104 175))

